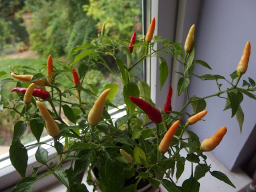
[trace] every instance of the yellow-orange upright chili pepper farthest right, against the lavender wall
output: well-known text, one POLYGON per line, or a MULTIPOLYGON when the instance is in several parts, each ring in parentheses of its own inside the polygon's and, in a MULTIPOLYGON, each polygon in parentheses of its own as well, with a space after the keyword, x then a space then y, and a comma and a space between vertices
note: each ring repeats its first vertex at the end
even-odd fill
POLYGON ((236 68, 238 75, 246 72, 248 67, 249 57, 250 57, 250 41, 247 41, 244 46, 241 59, 236 68))

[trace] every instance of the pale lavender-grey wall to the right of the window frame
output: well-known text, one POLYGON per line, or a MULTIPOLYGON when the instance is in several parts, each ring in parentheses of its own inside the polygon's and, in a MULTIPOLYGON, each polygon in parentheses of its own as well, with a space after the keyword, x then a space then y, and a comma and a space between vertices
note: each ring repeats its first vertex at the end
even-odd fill
MULTIPOLYGON (((196 59, 206 61, 212 68, 209 70, 196 65, 195 74, 212 73, 228 76, 236 70, 244 45, 249 40, 251 55, 248 70, 242 79, 247 80, 247 76, 249 76, 256 80, 255 0, 201 0, 199 18, 195 24, 196 59)), ((222 83, 226 84, 224 81, 222 83)), ((190 96, 202 97, 216 93, 218 89, 214 81, 202 82, 200 79, 192 78, 189 92, 190 96)), ((191 126, 191 130, 199 135, 201 141, 225 125, 227 133, 212 153, 228 169, 242 165, 256 150, 256 100, 244 95, 241 104, 244 112, 241 134, 235 116, 230 119, 231 111, 222 111, 225 99, 208 98, 206 102, 208 110, 204 118, 206 121, 197 122, 191 126), (250 135, 250 133, 252 134, 250 135)), ((191 112, 191 110, 189 111, 191 112)))

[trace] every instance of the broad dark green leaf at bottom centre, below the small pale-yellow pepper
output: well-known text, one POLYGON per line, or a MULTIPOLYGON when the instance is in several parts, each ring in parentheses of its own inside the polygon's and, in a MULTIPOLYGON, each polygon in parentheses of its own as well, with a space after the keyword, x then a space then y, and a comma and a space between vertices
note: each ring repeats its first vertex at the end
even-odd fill
POLYGON ((105 163, 105 178, 107 189, 111 192, 120 192, 124 186, 124 171, 122 166, 112 159, 107 159, 105 163))

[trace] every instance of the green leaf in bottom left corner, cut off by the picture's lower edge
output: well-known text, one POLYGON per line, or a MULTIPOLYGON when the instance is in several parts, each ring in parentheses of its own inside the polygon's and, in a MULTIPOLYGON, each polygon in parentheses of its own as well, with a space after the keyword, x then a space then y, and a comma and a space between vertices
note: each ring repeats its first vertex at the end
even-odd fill
POLYGON ((36 177, 26 176, 18 181, 16 186, 11 190, 11 192, 32 192, 36 177))

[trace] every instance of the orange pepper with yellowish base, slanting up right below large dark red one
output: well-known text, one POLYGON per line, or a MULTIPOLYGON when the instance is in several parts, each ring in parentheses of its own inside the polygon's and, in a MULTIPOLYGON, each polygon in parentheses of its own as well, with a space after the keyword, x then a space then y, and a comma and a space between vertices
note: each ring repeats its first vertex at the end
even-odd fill
POLYGON ((176 120, 175 122, 173 122, 173 124, 169 127, 167 132, 164 134, 158 146, 158 150, 160 152, 166 152, 168 150, 170 143, 172 141, 173 135, 178 128, 179 122, 180 122, 179 120, 176 120))

